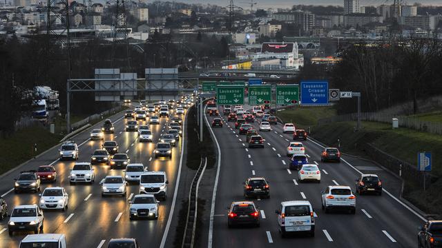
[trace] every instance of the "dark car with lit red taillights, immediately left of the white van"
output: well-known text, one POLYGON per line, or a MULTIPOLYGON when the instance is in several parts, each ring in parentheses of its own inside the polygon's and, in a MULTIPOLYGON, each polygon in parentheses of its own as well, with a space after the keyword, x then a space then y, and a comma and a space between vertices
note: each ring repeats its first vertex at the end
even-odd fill
POLYGON ((260 212, 252 201, 233 202, 227 213, 227 227, 236 225, 260 226, 260 212))

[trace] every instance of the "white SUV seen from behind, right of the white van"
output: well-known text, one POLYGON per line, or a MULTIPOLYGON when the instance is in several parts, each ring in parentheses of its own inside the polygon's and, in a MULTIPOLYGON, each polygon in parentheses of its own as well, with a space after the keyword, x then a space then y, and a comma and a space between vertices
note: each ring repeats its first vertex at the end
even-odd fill
POLYGON ((321 203, 325 213, 328 213, 330 209, 348 209, 350 214, 356 214, 356 196, 349 186, 327 186, 321 194, 321 203))

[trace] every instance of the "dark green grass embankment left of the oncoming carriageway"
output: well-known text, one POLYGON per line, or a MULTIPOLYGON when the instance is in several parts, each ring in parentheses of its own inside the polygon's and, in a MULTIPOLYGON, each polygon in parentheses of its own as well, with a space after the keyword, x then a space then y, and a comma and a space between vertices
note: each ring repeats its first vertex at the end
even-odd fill
POLYGON ((0 174, 28 161, 30 158, 57 145, 63 136, 51 134, 42 127, 28 127, 8 138, 0 138, 0 174), (37 153, 34 144, 37 143, 37 153))

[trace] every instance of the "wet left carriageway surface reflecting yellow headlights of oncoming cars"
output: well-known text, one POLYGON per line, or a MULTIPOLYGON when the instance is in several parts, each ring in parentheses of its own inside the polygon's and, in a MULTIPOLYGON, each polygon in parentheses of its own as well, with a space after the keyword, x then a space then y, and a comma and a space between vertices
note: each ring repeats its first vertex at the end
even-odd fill
MULTIPOLYGON (((121 169, 110 169, 108 165, 93 165, 95 168, 95 183, 93 185, 69 184, 69 172, 75 161, 58 161, 58 149, 55 147, 43 156, 30 161, 16 172, 0 178, 0 194, 8 203, 9 213, 16 205, 39 203, 38 193, 15 194, 11 190, 14 186, 14 178, 19 176, 22 170, 37 169, 39 165, 54 165, 57 169, 57 182, 41 185, 41 192, 45 187, 65 187, 69 194, 68 210, 49 211, 44 210, 44 233, 66 234, 68 247, 107 247, 111 238, 136 238, 142 247, 160 247, 169 211, 173 202, 177 172, 180 166, 180 154, 182 138, 177 147, 173 147, 172 156, 169 158, 153 158, 153 149, 160 134, 166 132, 166 118, 160 118, 160 125, 150 125, 153 132, 152 143, 139 143, 137 132, 125 132, 124 113, 121 112, 111 117, 115 125, 115 134, 105 134, 106 140, 117 141, 119 152, 126 152, 131 158, 131 163, 143 163, 149 171, 164 171, 167 174, 168 198, 160 202, 159 218, 157 220, 129 220, 128 200, 134 194, 138 194, 139 186, 128 185, 127 198, 121 196, 108 196, 102 198, 99 182, 106 175, 123 175, 121 169)), ((95 128, 102 123, 95 125, 95 128)), ((101 147, 102 141, 90 141, 90 129, 81 132, 73 138, 79 145, 78 162, 90 162, 90 156, 95 149, 101 147)), ((27 234, 15 233, 8 236, 8 219, 0 221, 0 247, 18 247, 19 242, 27 234)))

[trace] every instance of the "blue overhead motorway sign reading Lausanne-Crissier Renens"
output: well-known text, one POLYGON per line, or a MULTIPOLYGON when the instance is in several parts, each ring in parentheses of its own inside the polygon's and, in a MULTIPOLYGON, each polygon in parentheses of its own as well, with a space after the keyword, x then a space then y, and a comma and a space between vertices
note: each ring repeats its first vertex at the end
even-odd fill
POLYGON ((302 81, 301 105, 327 105, 329 104, 328 81, 302 81))

